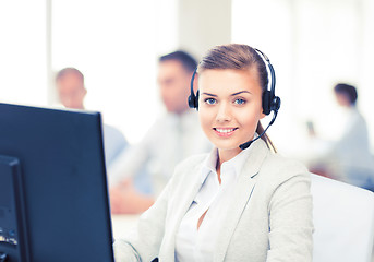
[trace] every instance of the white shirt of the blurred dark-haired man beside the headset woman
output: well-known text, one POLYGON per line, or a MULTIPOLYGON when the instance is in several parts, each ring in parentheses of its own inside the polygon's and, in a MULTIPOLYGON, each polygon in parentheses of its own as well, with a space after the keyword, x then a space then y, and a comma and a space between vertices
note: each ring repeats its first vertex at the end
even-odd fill
POLYGON ((109 183, 114 186, 124 178, 135 177, 143 169, 150 177, 153 193, 157 196, 179 162, 210 150, 212 144, 203 133, 194 110, 182 115, 166 114, 140 144, 130 147, 116 160, 108 170, 109 183))

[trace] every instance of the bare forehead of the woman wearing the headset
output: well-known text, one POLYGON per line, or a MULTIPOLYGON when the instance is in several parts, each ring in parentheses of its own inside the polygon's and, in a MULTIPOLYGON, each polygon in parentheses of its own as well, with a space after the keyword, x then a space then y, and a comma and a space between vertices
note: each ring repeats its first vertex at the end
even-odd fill
POLYGON ((262 93, 255 68, 248 70, 206 69, 198 74, 198 88, 207 93, 236 93, 249 91, 262 93))

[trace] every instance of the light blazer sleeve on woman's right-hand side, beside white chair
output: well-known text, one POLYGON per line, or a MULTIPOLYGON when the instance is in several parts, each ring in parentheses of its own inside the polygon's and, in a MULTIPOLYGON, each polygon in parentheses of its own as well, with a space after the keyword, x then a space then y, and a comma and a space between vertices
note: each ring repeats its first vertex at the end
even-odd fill
POLYGON ((279 184, 269 204, 269 251, 267 262, 312 262, 313 206, 310 174, 279 184))

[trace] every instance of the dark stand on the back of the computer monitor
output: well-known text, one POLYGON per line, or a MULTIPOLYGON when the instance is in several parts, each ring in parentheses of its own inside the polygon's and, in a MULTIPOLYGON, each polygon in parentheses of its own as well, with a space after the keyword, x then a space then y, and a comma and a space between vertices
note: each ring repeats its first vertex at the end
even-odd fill
POLYGON ((0 262, 29 262, 21 164, 0 155, 0 262))

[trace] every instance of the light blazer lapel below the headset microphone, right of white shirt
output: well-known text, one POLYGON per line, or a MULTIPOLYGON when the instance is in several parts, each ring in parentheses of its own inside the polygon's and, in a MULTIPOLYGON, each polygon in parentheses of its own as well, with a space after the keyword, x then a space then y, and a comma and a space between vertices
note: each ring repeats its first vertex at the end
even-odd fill
POLYGON ((236 230, 236 227, 241 218, 241 215, 249 203, 252 192, 256 183, 256 175, 268 154, 268 148, 262 140, 257 140, 252 145, 249 153, 248 160, 245 162, 243 169, 241 170, 236 188, 233 190, 231 203, 227 217, 221 225, 221 230, 217 238, 217 245, 215 250, 215 262, 221 262, 225 260, 225 255, 228 246, 231 240, 231 236, 236 230))

